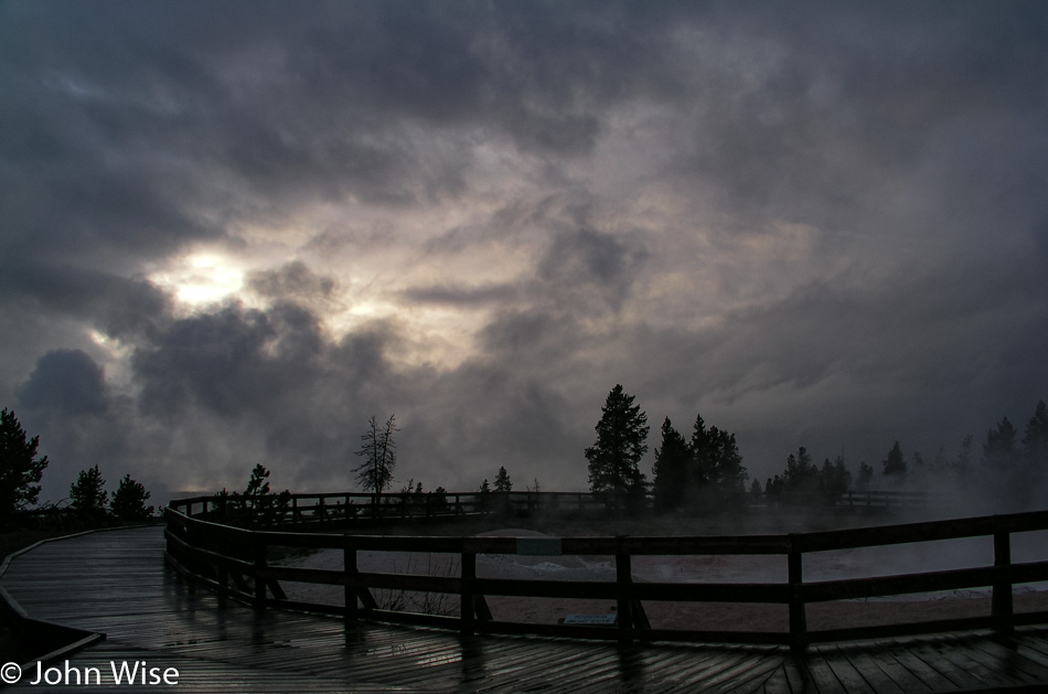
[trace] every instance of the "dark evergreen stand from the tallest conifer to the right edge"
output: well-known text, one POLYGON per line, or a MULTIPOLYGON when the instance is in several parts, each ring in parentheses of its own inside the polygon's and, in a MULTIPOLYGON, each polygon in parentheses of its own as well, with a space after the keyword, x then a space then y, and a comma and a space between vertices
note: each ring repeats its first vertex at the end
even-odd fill
POLYGON ((781 473, 768 478, 763 487, 753 480, 746 490, 749 472, 742 465, 735 434, 707 426, 702 414, 695 418, 691 438, 674 428, 669 417, 662 424, 662 440, 654 451, 653 480, 648 482, 640 461, 648 451, 648 416, 634 397, 617 384, 608 394, 595 427, 597 440, 586 448, 590 490, 597 494, 653 498, 656 511, 686 509, 702 513, 738 510, 748 503, 784 505, 834 504, 853 489, 875 485, 891 490, 981 492, 997 505, 1034 508, 1048 494, 1048 406, 1038 401, 1022 440, 1007 417, 986 434, 982 456, 976 460, 973 437, 961 444, 951 458, 941 447, 926 463, 915 452, 909 461, 899 441, 875 468, 859 462, 853 476, 843 456, 826 458, 822 466, 801 446, 787 457, 781 473))

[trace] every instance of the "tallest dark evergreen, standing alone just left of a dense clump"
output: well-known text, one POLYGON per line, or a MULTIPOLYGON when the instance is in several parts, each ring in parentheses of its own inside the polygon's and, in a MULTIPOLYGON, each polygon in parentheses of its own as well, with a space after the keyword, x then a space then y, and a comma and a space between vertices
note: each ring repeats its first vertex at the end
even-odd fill
POLYGON ((648 415, 618 384, 600 409, 602 414, 595 427, 597 441, 585 451, 590 489, 595 493, 640 494, 644 476, 639 463, 648 452, 648 415))

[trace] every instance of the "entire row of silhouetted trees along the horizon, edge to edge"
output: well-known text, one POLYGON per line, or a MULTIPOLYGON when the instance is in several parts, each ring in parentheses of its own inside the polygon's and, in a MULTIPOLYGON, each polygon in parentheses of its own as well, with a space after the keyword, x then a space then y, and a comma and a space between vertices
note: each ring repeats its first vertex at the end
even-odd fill
MULTIPOLYGON (((814 462, 809 450, 801 446, 787 457, 784 469, 761 485, 752 480, 742 465, 736 436, 716 426, 708 426, 702 414, 696 415, 691 436, 685 438, 665 417, 661 441, 654 450, 652 479, 641 472, 640 463, 648 452, 648 416, 624 392, 621 384, 608 393, 601 416, 595 427, 597 438, 584 450, 588 463, 590 491, 597 495, 616 497, 632 501, 635 508, 651 498, 659 512, 686 510, 716 513, 745 508, 759 502, 766 504, 806 505, 833 504, 849 490, 870 490, 875 487, 921 491, 979 490, 983 497, 1006 500, 1017 508, 1044 504, 1048 493, 1048 406, 1038 401, 1027 420, 1022 437, 1012 421, 1004 417, 987 430, 981 451, 976 453, 974 437, 966 436, 954 456, 940 447, 931 460, 919 452, 905 456, 895 441, 880 461, 880 474, 874 466, 860 461, 855 474, 843 456, 814 462)), ((396 466, 395 415, 379 425, 376 417, 367 423, 361 435, 361 448, 355 455, 363 458, 354 469, 357 483, 376 495, 393 484, 396 466)), ((29 437, 13 410, 0 413, 0 526, 10 524, 20 511, 38 504, 40 481, 47 468, 46 456, 39 456, 40 437, 29 437)), ((256 465, 244 492, 223 489, 215 495, 217 511, 245 521, 267 514, 278 514, 290 500, 290 492, 270 493, 269 471, 256 465)), ((69 487, 66 500, 85 519, 116 519, 139 521, 152 515, 147 506, 150 493, 145 487, 125 474, 111 500, 105 489, 106 480, 97 465, 81 470, 69 487)), ((509 493, 513 482, 505 467, 499 468, 494 487, 484 479, 479 493, 509 493)), ((538 480, 528 491, 539 491, 538 480)), ((402 493, 428 493, 443 500, 448 491, 437 487, 424 492, 421 482, 410 480, 402 493)), ((435 502, 436 503, 436 502, 435 502)))

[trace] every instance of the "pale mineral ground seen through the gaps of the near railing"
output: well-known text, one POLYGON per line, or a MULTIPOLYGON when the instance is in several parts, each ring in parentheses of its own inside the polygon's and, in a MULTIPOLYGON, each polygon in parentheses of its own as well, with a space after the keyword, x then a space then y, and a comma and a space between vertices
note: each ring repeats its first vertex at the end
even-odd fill
MULTIPOLYGON (((548 537, 541 532, 505 528, 479 533, 517 537, 548 537)), ((1044 559, 1045 537, 1013 541, 1013 560, 1044 559)), ((281 562, 288 566, 342 569, 342 553, 322 551, 281 562)), ((986 566, 993 563, 988 538, 919 543, 892 547, 859 548, 808 554, 805 581, 888 576, 895 574, 986 566)), ((362 572, 458 576, 459 557, 450 554, 360 552, 362 572)), ((649 583, 783 583, 784 556, 634 556, 633 579, 649 583)), ((607 556, 517 556, 478 555, 480 578, 545 580, 608 580, 616 576, 614 558, 607 556)), ((291 600, 342 605, 342 588, 309 584, 285 584, 291 600)), ((457 596, 405 594, 373 590, 379 606, 414 612, 457 615, 457 596)), ((567 615, 608 615, 612 600, 546 599, 489 596, 496 620, 557 623, 567 615)), ((1015 611, 1048 610, 1048 584, 1016 586, 1015 611)), ((713 631, 787 631, 787 606, 738 602, 645 601, 653 628, 713 631)), ((909 596, 810 604, 810 630, 866 627, 975 617, 990 613, 990 588, 950 590, 909 596)))

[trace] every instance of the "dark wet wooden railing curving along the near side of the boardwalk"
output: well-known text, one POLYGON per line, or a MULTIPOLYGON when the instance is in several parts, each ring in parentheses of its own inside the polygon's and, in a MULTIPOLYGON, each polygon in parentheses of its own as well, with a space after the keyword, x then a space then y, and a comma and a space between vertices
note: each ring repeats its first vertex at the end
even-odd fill
MULTIPOLYGON (((184 575, 218 591, 250 601, 258 608, 284 607, 361 617, 393 622, 424 623, 460 629, 464 633, 541 633, 564 637, 638 640, 686 640, 737 643, 782 643, 803 649, 808 643, 847 639, 884 638, 970 629, 1008 631, 1027 623, 1048 622, 1048 611, 1016 613, 1013 590, 1018 584, 1048 580, 1048 556, 1016 563, 1012 537, 1017 533, 1048 531, 1048 511, 982 517, 908 523, 878 527, 780 535, 737 536, 616 536, 616 537, 501 537, 501 536, 368 536, 357 534, 297 533, 245 530, 223 525, 189 511, 200 499, 172 502, 165 510, 168 558, 184 575), (895 576, 869 576, 835 580, 805 580, 804 562, 815 553, 881 547, 910 543, 991 537, 987 564, 895 576), (342 570, 280 566, 274 557, 290 552, 328 549, 342 553, 342 570), (458 558, 458 575, 373 573, 357 568, 357 555, 368 553, 442 553, 458 558), (478 555, 575 555, 613 557, 614 580, 537 580, 480 578, 478 555), (632 560, 639 556, 766 555, 785 564, 785 583, 674 583, 635 581, 632 560), (342 588, 338 602, 302 602, 288 599, 289 583, 342 588), (979 617, 940 619, 916 623, 808 629, 806 606, 833 600, 941 590, 992 588, 992 609, 979 617), (450 595, 458 600, 452 616, 408 613, 384 609, 373 590, 417 591, 450 595), (575 624, 536 624, 492 619, 486 598, 586 598, 614 600, 617 628, 575 624), (788 631, 703 631, 651 628, 644 602, 757 602, 787 606, 788 631)), ((346 504, 347 505, 347 504, 346 504)), ((1041 543, 1048 555, 1048 543, 1041 543)))

